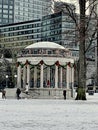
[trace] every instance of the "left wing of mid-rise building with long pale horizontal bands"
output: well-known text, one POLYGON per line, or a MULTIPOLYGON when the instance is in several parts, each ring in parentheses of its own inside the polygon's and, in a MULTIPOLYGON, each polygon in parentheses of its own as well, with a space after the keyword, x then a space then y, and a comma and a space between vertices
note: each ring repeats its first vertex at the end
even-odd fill
POLYGON ((0 45, 8 49, 21 49, 41 41, 41 20, 32 20, 0 26, 0 45))

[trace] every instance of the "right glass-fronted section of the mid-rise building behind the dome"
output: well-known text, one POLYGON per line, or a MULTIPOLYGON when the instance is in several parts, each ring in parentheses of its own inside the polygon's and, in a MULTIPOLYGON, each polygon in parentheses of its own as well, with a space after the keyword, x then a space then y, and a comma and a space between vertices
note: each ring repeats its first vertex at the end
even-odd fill
POLYGON ((56 42, 64 47, 75 46, 75 23, 63 12, 42 18, 42 41, 56 42))

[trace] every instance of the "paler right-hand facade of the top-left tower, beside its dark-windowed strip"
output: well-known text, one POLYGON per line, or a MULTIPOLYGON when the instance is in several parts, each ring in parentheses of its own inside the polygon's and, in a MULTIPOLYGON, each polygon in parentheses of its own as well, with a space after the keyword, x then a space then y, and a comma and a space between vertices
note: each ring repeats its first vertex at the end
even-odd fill
POLYGON ((51 13, 51 0, 15 0, 14 22, 42 18, 51 13))

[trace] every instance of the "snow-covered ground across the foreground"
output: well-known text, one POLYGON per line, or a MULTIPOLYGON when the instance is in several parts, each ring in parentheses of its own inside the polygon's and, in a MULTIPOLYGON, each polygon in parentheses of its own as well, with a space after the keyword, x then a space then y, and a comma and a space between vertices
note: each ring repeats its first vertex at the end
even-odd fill
POLYGON ((0 130, 98 130, 98 94, 87 101, 0 99, 0 130))

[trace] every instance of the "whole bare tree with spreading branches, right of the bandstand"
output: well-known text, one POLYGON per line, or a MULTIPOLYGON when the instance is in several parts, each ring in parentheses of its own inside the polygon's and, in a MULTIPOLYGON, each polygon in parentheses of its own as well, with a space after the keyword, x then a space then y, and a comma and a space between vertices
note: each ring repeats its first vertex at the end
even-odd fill
MULTIPOLYGON (((92 33, 91 30, 89 31, 92 18, 95 18, 94 8, 96 1, 97 0, 92 0, 92 2, 86 6, 86 3, 89 2, 89 0, 79 0, 79 19, 77 19, 77 15, 75 15, 74 10, 70 5, 63 3, 62 6, 59 7, 59 9, 61 9, 64 13, 67 12, 67 14, 73 19, 78 34, 77 42, 79 42, 79 84, 76 100, 86 100, 86 53, 92 46, 93 40, 95 39, 98 30, 96 24, 97 22, 95 22, 95 28, 91 28, 92 33), (86 15, 87 10, 90 10, 88 16, 86 15)), ((61 1, 59 0, 59 2, 61 1)), ((95 18, 95 20, 97 19, 95 18)))

